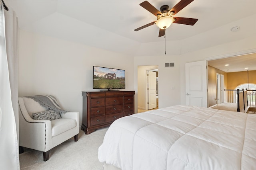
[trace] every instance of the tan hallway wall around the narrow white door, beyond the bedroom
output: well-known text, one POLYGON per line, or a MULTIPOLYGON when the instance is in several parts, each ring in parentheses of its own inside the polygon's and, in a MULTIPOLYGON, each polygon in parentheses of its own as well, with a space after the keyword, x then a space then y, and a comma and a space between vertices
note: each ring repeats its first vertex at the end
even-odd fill
POLYGON ((227 87, 227 73, 208 65, 208 106, 217 104, 217 75, 224 75, 224 89, 227 87))

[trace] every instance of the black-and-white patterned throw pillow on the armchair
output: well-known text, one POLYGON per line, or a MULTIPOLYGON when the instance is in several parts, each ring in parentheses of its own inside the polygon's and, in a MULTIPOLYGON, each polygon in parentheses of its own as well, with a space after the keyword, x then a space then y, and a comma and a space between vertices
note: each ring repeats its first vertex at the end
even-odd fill
POLYGON ((33 119, 35 120, 54 120, 60 119, 60 113, 57 113, 54 110, 46 110, 38 113, 32 113, 33 119))

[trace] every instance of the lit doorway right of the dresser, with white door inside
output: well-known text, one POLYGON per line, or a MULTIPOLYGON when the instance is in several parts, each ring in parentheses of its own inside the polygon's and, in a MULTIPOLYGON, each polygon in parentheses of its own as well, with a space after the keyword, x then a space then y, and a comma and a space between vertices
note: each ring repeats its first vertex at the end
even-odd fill
POLYGON ((158 109, 157 65, 138 66, 138 113, 149 109, 158 109))

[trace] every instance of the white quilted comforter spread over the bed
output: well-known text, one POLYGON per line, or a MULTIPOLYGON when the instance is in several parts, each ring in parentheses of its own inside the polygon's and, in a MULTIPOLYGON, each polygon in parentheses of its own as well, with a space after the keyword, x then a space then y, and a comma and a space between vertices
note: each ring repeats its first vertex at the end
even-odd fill
POLYGON ((256 115, 171 106, 122 117, 98 158, 122 170, 253 170, 256 115))

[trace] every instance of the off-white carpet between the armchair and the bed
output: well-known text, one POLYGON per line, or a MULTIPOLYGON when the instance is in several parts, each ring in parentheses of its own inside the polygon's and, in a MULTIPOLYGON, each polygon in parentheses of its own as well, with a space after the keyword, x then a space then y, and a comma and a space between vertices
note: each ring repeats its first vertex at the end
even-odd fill
POLYGON ((108 128, 98 129, 90 135, 80 130, 78 141, 74 137, 50 150, 44 162, 43 152, 24 148, 20 154, 21 170, 103 170, 98 160, 98 147, 108 128))

